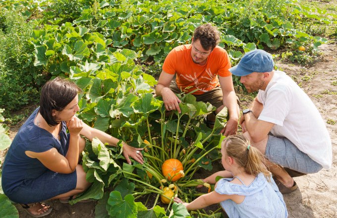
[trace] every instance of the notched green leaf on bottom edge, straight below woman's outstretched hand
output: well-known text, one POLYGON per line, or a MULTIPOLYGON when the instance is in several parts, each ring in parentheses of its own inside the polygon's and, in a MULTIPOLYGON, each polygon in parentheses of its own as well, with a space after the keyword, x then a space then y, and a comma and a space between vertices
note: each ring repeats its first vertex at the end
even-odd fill
POLYGON ((134 197, 130 194, 122 199, 118 191, 112 191, 108 200, 111 206, 109 214, 116 218, 137 218, 137 205, 134 202, 134 197))

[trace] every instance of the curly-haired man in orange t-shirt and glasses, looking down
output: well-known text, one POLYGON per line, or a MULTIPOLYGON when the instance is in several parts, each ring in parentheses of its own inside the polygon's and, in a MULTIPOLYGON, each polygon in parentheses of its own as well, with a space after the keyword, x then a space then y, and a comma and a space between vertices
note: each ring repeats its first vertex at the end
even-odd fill
POLYGON ((214 124, 215 114, 224 106, 229 119, 221 131, 224 135, 236 134, 239 108, 229 68, 227 52, 217 46, 219 31, 210 24, 197 27, 192 44, 174 48, 166 57, 163 71, 156 86, 156 94, 163 97, 167 110, 180 113, 179 98, 175 93, 185 92, 196 97, 197 101, 209 102, 217 108, 208 115, 209 124, 214 124), (170 83, 176 74, 176 86, 170 83))

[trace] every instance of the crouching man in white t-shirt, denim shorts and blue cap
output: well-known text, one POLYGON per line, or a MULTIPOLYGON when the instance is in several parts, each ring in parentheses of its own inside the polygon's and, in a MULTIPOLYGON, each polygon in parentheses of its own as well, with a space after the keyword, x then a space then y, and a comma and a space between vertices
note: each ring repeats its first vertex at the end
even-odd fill
POLYGON ((229 69, 248 92, 259 91, 240 119, 243 134, 266 157, 282 194, 297 189, 294 176, 332 165, 332 144, 319 111, 263 50, 246 53, 229 69), (284 168, 283 168, 284 167, 284 168))

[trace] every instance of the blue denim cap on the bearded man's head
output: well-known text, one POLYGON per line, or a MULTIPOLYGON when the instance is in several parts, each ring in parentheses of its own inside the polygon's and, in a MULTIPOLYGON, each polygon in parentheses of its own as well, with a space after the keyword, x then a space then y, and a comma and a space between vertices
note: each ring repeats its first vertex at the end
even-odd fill
POLYGON ((229 69, 235 76, 246 76, 252 72, 271 72, 274 69, 274 61, 272 55, 261 50, 256 49, 247 52, 240 60, 240 62, 229 69))

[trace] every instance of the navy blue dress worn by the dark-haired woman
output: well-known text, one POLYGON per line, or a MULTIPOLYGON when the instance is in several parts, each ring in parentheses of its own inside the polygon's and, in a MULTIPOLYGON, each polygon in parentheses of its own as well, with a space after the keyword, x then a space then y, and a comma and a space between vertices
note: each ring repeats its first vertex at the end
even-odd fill
POLYGON ((69 174, 54 172, 25 151, 45 152, 52 148, 63 156, 69 147, 65 122, 59 133, 60 140, 34 124, 36 109, 21 126, 10 145, 2 166, 1 185, 4 194, 13 202, 30 204, 48 200, 76 187, 76 170, 69 174))

